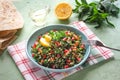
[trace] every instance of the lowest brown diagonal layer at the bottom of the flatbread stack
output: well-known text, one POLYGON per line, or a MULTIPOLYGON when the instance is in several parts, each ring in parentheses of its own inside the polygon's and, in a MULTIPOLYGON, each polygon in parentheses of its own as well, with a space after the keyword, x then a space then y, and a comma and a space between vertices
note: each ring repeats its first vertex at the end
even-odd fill
POLYGON ((0 47, 0 55, 7 48, 7 46, 10 45, 16 38, 17 38, 17 36, 13 36, 9 39, 6 39, 6 41, 4 41, 4 44, 0 47))

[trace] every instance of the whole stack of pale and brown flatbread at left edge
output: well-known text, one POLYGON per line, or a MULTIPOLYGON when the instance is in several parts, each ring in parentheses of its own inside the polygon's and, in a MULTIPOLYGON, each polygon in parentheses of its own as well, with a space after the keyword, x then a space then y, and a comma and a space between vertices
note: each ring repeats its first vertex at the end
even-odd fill
POLYGON ((17 36, 24 21, 11 0, 0 0, 0 54, 10 45, 17 36))

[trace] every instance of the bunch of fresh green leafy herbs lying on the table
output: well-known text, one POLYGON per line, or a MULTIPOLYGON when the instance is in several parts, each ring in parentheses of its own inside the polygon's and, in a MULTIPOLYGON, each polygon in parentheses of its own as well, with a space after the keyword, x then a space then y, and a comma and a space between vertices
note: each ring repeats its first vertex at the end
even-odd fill
POLYGON ((86 0, 75 0, 76 7, 74 13, 78 13, 79 20, 89 23, 97 23, 96 28, 106 22, 115 27, 109 20, 109 16, 118 17, 119 8, 114 4, 116 0, 100 0, 99 2, 87 3, 86 0))

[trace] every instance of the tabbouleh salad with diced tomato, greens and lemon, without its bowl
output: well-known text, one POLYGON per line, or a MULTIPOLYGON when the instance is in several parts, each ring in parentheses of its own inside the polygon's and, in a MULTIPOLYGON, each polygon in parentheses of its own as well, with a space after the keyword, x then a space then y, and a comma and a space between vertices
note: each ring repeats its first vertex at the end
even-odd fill
POLYGON ((32 57, 42 66, 65 69, 78 64, 85 54, 82 37, 69 30, 51 30, 38 36, 31 46, 32 57))

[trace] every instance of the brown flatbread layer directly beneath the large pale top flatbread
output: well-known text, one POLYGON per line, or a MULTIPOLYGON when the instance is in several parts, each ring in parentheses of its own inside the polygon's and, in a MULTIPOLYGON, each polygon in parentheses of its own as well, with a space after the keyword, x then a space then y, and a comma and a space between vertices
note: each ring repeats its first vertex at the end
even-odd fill
POLYGON ((10 36, 15 35, 15 33, 17 32, 17 30, 7 30, 7 31, 1 31, 0 32, 0 38, 7 38, 10 36))

